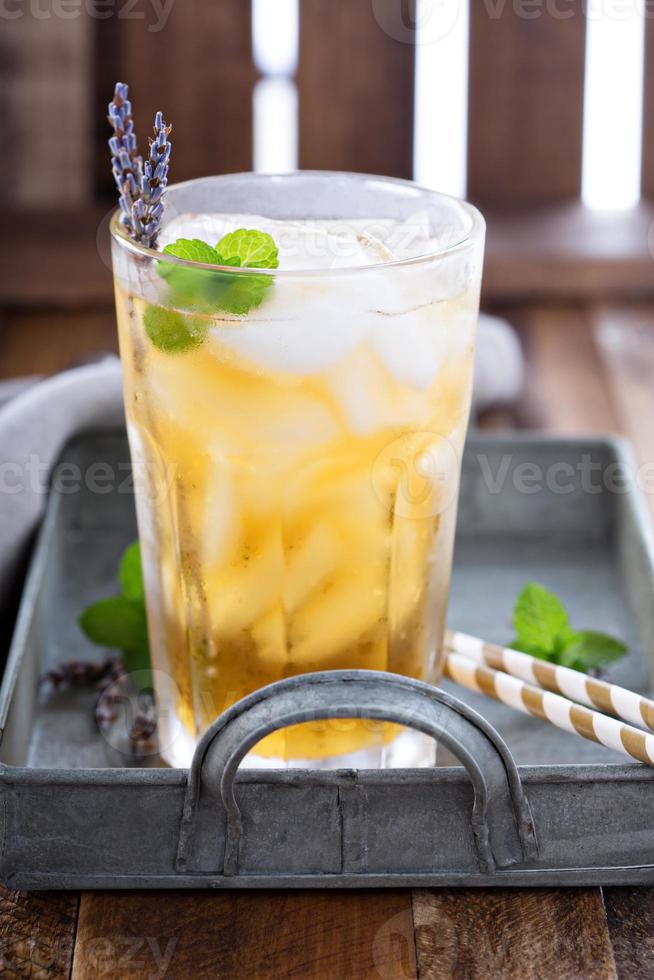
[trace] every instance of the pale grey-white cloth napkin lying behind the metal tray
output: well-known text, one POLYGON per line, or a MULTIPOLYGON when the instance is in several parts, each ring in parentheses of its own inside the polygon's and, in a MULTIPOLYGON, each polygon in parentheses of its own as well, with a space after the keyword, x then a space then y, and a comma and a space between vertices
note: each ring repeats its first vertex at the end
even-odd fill
MULTIPOLYGON (((520 392, 523 361, 504 320, 482 315, 474 408, 511 402, 520 392)), ((46 504, 48 479, 65 443, 89 428, 123 424, 118 359, 64 371, 46 380, 0 384, 0 607, 46 504)))

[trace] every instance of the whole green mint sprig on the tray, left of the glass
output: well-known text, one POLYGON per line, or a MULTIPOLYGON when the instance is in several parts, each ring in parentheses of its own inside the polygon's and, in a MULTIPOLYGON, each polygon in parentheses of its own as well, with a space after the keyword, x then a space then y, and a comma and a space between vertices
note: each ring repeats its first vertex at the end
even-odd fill
POLYGON ((120 650, 127 673, 149 670, 150 647, 138 541, 123 554, 118 582, 120 594, 88 606, 79 617, 80 628, 93 643, 120 650))

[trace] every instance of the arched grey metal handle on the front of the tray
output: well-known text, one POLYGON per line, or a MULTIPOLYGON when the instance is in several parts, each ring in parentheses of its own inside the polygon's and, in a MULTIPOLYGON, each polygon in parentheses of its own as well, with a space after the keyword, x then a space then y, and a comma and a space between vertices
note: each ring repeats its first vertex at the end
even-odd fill
POLYGON ((472 831, 480 870, 492 872, 535 857, 529 804, 507 746, 495 729, 440 688, 398 674, 333 670, 278 681, 233 705, 198 743, 180 824, 178 870, 185 870, 203 787, 227 814, 223 874, 238 874, 241 812, 234 779, 244 756, 266 735, 303 721, 370 718, 431 735, 465 766, 474 803, 472 831))

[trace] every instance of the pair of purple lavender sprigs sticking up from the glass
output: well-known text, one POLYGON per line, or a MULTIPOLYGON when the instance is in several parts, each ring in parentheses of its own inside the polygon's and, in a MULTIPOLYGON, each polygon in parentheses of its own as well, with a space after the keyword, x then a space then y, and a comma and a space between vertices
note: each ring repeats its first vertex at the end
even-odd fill
POLYGON ((107 118, 114 130, 109 148, 121 222, 131 238, 154 248, 163 215, 163 192, 168 183, 171 127, 158 112, 154 123, 155 138, 150 139, 150 152, 144 164, 138 154, 128 87, 122 82, 116 83, 107 118))

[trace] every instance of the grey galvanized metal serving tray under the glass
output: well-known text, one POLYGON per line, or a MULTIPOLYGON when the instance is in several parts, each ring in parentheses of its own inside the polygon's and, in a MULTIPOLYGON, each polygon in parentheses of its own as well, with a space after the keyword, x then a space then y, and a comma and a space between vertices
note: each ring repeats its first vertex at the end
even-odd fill
MULTIPOLYGON (((654 771, 450 684, 441 691, 367 671, 283 681, 221 716, 189 771, 156 760, 136 768, 95 729, 90 691, 43 701, 44 670, 101 656, 76 617, 109 594, 136 534, 128 459, 122 433, 78 436, 51 492, 0 693, 8 885, 654 882, 654 771), (463 766, 237 775, 263 733, 317 709, 413 725, 438 739, 441 759, 449 752, 463 766)), ((472 436, 451 625, 508 642, 518 590, 541 581, 565 598, 575 624, 627 640, 632 652, 611 677, 647 691, 653 553, 635 477, 615 440, 472 436)))

